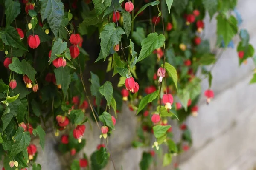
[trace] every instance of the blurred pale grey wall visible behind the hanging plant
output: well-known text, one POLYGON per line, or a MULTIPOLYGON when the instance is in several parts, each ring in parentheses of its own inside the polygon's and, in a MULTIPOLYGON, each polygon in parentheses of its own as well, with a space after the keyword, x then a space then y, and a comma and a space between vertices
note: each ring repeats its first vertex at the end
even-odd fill
MULTIPOLYGON (((256 46, 256 0, 238 0, 237 11, 243 22, 240 27, 248 30, 250 43, 256 46)), ((215 18, 205 20, 205 38, 211 42, 212 51, 216 42, 215 18)), ((193 146, 179 157, 173 157, 173 163, 179 164, 180 170, 256 170, 256 85, 249 85, 255 67, 248 59, 247 64, 239 67, 236 46, 238 37, 234 40, 234 49, 228 48, 218 59, 212 70, 212 90, 215 98, 209 105, 201 95, 198 103, 198 117, 190 117, 186 124, 192 131, 193 146)), ((202 91, 208 88, 205 79, 202 91)), ((139 170, 142 152, 151 148, 133 148, 131 142, 136 136, 136 113, 123 105, 116 123, 116 131, 109 139, 109 148, 118 170, 139 170)), ((173 132, 177 139, 179 129, 172 122, 173 132), (176 128, 175 128, 176 127, 176 128)), ((90 155, 99 144, 99 130, 93 124, 92 130, 87 127, 84 137, 87 139, 84 152, 90 155)), ((47 133, 44 151, 38 147, 37 162, 42 170, 62 170, 67 163, 65 155, 60 155, 53 132, 47 133)), ((39 140, 32 143, 39 146, 39 140)), ((82 154, 82 153, 79 153, 82 154)), ((155 162, 161 156, 155 157, 155 162)), ((162 167, 161 163, 151 167, 152 170, 174 170, 173 165, 162 167)), ((110 162, 106 170, 113 170, 110 162)))

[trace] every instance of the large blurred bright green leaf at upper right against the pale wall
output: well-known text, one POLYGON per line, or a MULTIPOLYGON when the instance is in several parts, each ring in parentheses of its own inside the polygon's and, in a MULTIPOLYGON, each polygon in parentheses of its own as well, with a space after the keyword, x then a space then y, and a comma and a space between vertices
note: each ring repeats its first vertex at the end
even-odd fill
POLYGON ((218 14, 217 19, 217 34, 223 37, 224 45, 227 47, 229 42, 236 35, 237 28, 237 20, 235 17, 230 16, 229 19, 224 17, 224 15, 218 14))

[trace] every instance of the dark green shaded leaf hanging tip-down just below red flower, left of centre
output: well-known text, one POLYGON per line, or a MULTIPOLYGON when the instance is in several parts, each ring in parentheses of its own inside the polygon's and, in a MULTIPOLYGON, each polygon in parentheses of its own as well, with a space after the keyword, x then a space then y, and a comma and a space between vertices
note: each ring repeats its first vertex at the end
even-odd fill
POLYGON ((57 85, 61 85, 63 94, 64 94, 64 96, 66 96, 67 89, 71 82, 69 68, 68 67, 55 68, 54 73, 55 73, 57 85))

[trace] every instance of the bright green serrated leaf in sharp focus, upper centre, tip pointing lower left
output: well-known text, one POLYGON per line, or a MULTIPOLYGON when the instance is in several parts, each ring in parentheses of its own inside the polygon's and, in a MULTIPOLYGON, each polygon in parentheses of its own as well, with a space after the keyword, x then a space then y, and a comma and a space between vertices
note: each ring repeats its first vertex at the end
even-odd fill
POLYGON ((163 47, 164 42, 163 34, 158 35, 156 32, 148 34, 148 37, 141 42, 142 48, 137 62, 148 57, 155 49, 163 47))

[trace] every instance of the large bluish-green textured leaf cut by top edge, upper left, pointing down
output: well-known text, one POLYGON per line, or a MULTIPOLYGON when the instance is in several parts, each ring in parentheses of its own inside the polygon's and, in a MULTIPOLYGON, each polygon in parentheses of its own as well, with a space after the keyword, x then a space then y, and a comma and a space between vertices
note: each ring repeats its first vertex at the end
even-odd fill
POLYGON ((61 0, 40 1, 42 20, 47 19, 53 34, 57 37, 58 30, 61 28, 61 22, 64 18, 64 5, 61 0))

